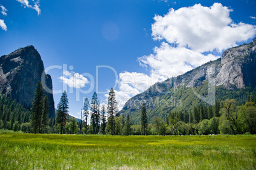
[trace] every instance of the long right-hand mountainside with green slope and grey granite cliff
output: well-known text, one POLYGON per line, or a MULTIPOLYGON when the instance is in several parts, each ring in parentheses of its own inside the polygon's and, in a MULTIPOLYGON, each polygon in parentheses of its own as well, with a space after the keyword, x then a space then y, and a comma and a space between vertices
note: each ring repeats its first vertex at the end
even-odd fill
POLYGON ((132 122, 138 123, 140 108, 138 101, 146 102, 150 117, 167 114, 169 111, 191 110, 192 106, 202 102, 196 96, 194 89, 197 94, 204 96, 208 93, 208 82, 225 90, 256 87, 255 68, 256 39, 253 39, 252 43, 225 50, 220 59, 203 64, 175 78, 155 83, 145 92, 129 99, 120 114, 131 115, 132 122), (182 100, 182 106, 177 106, 177 103, 176 105, 167 104, 168 106, 155 104, 158 101, 160 103, 161 100, 174 103, 179 99, 182 100))

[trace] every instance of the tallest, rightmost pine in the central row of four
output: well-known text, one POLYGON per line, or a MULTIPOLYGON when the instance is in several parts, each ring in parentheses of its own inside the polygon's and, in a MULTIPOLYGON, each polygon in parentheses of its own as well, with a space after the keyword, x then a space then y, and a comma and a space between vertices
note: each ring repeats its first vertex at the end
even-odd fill
POLYGON ((117 112, 117 101, 115 99, 115 91, 113 88, 110 89, 110 93, 108 94, 108 121, 110 121, 110 129, 111 129, 111 135, 113 135, 114 132, 114 119, 117 112))

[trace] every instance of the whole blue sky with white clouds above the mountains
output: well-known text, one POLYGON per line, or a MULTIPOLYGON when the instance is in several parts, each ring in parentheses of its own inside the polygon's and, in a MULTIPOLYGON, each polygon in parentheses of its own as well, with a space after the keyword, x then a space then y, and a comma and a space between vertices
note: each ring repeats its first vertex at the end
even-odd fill
MULTIPOLYGON (((53 90, 68 90, 69 114, 76 117, 83 97, 90 99, 96 90, 104 100, 117 85, 122 108, 153 83, 217 59, 256 33, 254 0, 0 0, 0 5, 0 55, 34 45, 45 68, 52 68, 53 90), (67 69, 62 74, 56 66, 67 69)), ((53 94, 55 106, 60 96, 53 94)))

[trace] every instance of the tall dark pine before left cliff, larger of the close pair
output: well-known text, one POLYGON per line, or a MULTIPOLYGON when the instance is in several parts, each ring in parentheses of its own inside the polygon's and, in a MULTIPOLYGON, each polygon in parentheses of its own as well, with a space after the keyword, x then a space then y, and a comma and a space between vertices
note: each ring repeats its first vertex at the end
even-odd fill
POLYGON ((45 95, 43 85, 38 80, 36 84, 36 90, 34 91, 34 99, 32 103, 32 126, 34 128, 34 133, 38 132, 41 127, 41 118, 43 115, 43 96, 45 95))

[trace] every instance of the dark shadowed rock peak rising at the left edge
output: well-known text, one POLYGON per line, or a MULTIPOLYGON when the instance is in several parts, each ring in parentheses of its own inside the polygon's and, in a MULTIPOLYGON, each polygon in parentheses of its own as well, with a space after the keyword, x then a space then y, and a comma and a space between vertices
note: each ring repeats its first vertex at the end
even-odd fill
MULTIPOLYGON (((44 73, 43 61, 34 46, 20 48, 9 55, 0 57, 0 93, 16 99, 25 107, 31 107, 36 83, 44 73)), ((52 89, 52 78, 45 75, 46 85, 52 89)), ((55 116, 52 93, 49 98, 49 115, 55 116)))

